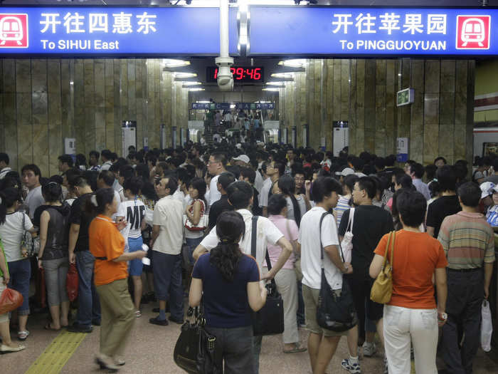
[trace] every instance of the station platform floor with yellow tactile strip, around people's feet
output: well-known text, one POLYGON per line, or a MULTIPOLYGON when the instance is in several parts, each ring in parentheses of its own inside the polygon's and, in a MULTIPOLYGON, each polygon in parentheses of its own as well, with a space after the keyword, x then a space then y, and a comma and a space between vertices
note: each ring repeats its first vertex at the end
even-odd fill
MULTIPOLYGON (((137 318, 124 359, 126 365, 119 373, 147 374, 181 374, 173 360, 173 350, 180 333, 180 325, 171 323, 169 326, 155 326, 149 323, 149 318, 157 316, 152 313, 154 303, 142 307, 142 317, 137 318)), ((26 350, 18 353, 0 355, 0 373, 2 374, 88 374, 105 373, 94 362, 95 353, 99 347, 100 328, 95 326, 92 333, 69 333, 46 331, 43 325, 46 314, 30 316, 28 330, 31 335, 24 342, 26 350)), ((498 327, 498 326, 497 326, 498 327)), ((15 341, 16 331, 11 331, 15 341)), ((306 346, 308 332, 300 329, 302 345, 306 346)), ((328 374, 347 374, 341 368, 341 360, 347 357, 346 338, 341 338, 339 347, 327 370, 328 374)), ((382 374, 382 355, 376 353, 373 358, 360 361, 362 373, 382 374)), ((413 366, 413 365, 412 365, 413 366)), ((438 359, 438 368, 444 364, 438 359)), ((282 352, 282 336, 263 338, 260 356, 260 374, 311 374, 308 353, 286 354, 282 352)), ((415 370, 412 370, 415 373, 415 370)), ((497 374, 497 349, 490 353, 479 350, 474 363, 474 374, 497 374)), ((410 374, 410 373, 407 373, 410 374)))

